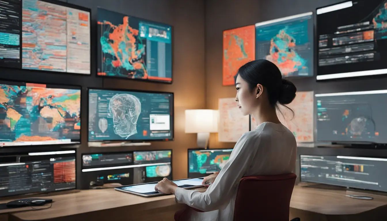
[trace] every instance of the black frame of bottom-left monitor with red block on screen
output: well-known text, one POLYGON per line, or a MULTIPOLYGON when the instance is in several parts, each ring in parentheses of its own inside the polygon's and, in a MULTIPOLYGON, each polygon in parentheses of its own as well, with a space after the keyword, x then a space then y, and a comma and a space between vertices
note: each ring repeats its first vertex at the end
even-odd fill
MULTIPOLYGON (((77 148, 55 149, 55 150, 47 150, 47 151, 45 151, 45 150, 40 150, 40 151, 32 150, 32 151, 24 151, 24 152, 17 152, 17 153, 14 152, 14 153, 11 153, 11 154, 8 154, 8 155, 21 156, 21 155, 25 154, 26 156, 28 156, 29 153, 35 153, 35 152, 69 151, 69 150, 75 151, 75 153, 68 153, 68 154, 73 154, 74 155, 74 159, 75 159, 75 186, 74 186, 74 188, 68 188, 68 189, 64 189, 64 190, 29 192, 29 193, 25 193, 25 194, 12 194, 12 195, 5 195, 5 196, 1 196, 0 195, 0 199, 14 198, 15 196, 40 195, 40 194, 48 194, 48 193, 56 193, 56 192, 65 192, 65 191, 77 189, 77 185, 78 185, 78 177, 77 177, 77 161, 78 161, 78 159, 77 159, 77 148)), ((66 154, 58 154, 58 155, 66 155, 66 154)), ((5 155, 5 156, 7 156, 7 155, 5 155)), ((54 156, 54 154, 46 155, 46 156, 54 156)))

